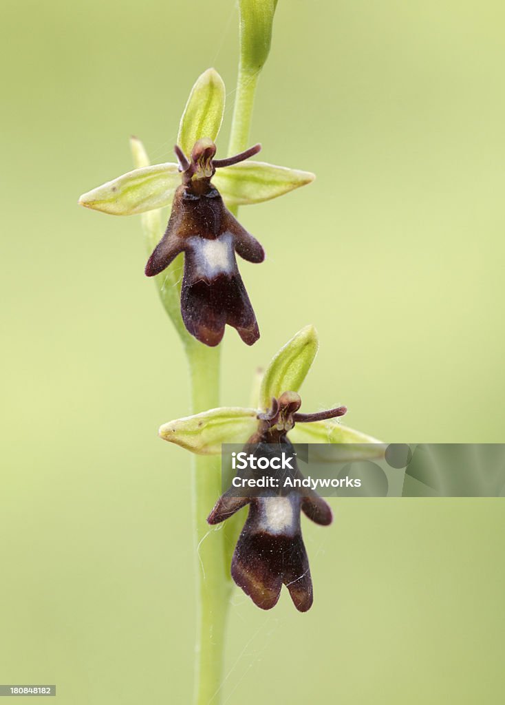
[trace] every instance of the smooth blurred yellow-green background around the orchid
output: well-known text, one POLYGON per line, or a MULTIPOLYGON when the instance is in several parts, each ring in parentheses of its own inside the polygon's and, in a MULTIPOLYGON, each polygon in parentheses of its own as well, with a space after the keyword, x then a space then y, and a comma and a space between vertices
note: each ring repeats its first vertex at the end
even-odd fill
MULTIPOLYGON (((237 10, 4 0, 0 682, 65 705, 188 703, 194 550, 177 338, 144 278, 139 217, 77 207, 172 159, 194 79, 230 120, 237 10)), ((308 322, 304 409, 397 442, 504 440, 505 8, 280 0, 251 142, 316 172, 242 209, 262 338, 225 336, 223 401, 308 322), (291 285, 287 285, 287 281, 291 285)), ((226 144, 225 125, 219 145, 226 144)), ((219 146, 218 145, 218 146, 219 146)), ((304 527, 316 602, 230 615, 228 704, 503 702, 503 500, 332 500, 304 527)))

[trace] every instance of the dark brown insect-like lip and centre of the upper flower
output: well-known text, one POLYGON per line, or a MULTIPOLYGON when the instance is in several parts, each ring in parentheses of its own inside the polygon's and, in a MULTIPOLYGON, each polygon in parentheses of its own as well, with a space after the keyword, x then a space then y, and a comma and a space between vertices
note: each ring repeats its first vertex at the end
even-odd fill
POLYGON ((175 192, 166 232, 145 268, 146 276, 156 276, 185 253, 182 321, 192 336, 211 347, 220 343, 226 325, 235 328, 247 345, 259 338, 236 255, 258 263, 265 259, 265 252, 228 211, 211 183, 216 168, 237 164, 259 149, 256 145, 235 157, 216 160, 216 145, 208 139, 194 145, 191 159, 175 147, 182 185, 175 192))

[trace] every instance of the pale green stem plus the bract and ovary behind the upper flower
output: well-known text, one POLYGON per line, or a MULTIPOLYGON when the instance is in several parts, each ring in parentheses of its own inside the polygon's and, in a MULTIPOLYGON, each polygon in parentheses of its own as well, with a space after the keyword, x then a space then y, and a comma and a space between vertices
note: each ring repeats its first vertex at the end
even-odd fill
MULTIPOLYGON (((142 142, 132 138, 135 166, 149 166, 142 142)), ((163 233, 161 212, 142 214, 142 227, 149 254, 163 233)), ((179 265, 181 263, 179 262, 179 265)), ((189 364, 192 413, 219 406, 220 348, 208 348, 189 335, 180 314, 180 266, 174 263, 156 276, 163 307, 172 319, 189 364)), ((223 675, 225 627, 232 583, 225 554, 225 534, 209 532, 206 517, 221 492, 220 458, 192 455, 193 525, 197 555, 197 645, 195 703, 218 705, 223 675)))

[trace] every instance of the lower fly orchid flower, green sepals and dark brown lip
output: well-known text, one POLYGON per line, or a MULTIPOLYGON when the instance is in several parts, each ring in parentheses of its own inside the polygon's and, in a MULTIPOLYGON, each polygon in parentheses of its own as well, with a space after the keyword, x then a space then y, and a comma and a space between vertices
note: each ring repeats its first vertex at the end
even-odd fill
MULTIPOLYGON (((359 443, 361 457, 376 456, 378 448, 382 448, 378 441, 335 420, 344 415, 346 407, 313 414, 299 412, 299 387, 317 349, 316 331, 307 326, 270 362, 256 407, 223 407, 177 419, 161 427, 161 438, 201 454, 220 453, 222 443, 247 442, 250 447, 309 442, 359 443), (363 450, 366 446, 370 451, 363 450)), ((285 584, 296 608, 307 611, 313 601, 313 589, 300 514, 328 525, 332 521, 330 506, 316 492, 305 488, 302 494, 292 492, 285 496, 262 496, 257 491, 254 496, 237 496, 237 492, 226 491, 218 498, 208 522, 223 522, 245 505, 249 505, 249 515, 232 557, 233 580, 262 609, 275 606, 285 584)))

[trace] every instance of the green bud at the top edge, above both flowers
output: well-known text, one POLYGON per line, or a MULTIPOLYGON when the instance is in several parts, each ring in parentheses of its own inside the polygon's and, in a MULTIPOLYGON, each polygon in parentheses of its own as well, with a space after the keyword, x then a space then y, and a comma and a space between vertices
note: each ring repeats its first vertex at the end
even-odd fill
POLYGON ((276 6, 277 0, 239 0, 242 71, 254 75, 268 59, 276 6))

